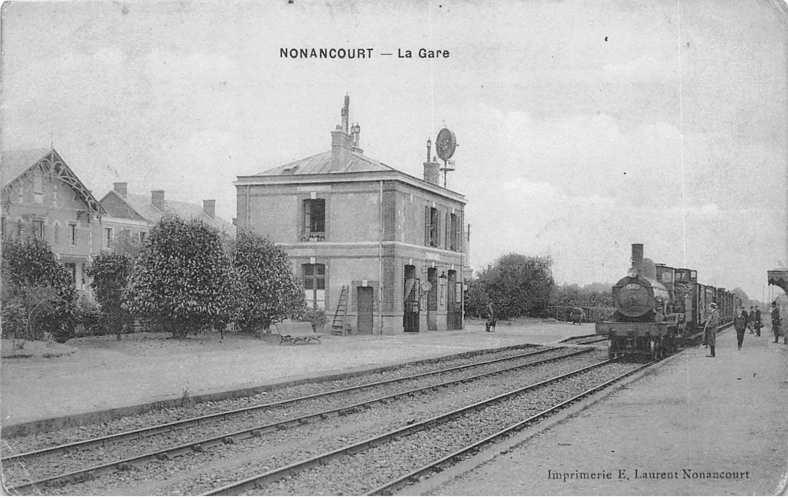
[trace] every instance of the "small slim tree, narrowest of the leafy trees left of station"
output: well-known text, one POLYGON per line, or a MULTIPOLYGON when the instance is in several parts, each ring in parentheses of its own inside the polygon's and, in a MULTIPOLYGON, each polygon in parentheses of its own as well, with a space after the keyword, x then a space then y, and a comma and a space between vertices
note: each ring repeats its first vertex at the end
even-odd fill
POLYGON ((99 301, 102 315, 106 317, 110 329, 115 330, 118 341, 121 340, 123 324, 128 318, 128 312, 121 304, 131 269, 131 256, 110 251, 102 251, 99 256, 95 256, 87 268, 87 276, 93 279, 91 287, 95 290, 96 301, 99 301))

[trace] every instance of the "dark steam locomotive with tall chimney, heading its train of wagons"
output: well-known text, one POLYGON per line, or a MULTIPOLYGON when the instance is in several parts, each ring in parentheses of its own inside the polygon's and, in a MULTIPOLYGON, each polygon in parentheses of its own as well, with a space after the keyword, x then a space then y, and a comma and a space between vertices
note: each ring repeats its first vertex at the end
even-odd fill
POLYGON ((632 245, 632 267, 613 286, 615 312, 597 323, 609 339, 612 359, 658 359, 703 338, 709 304, 716 303, 719 325, 733 322, 742 299, 719 287, 697 282, 697 271, 654 264, 643 245, 632 245))

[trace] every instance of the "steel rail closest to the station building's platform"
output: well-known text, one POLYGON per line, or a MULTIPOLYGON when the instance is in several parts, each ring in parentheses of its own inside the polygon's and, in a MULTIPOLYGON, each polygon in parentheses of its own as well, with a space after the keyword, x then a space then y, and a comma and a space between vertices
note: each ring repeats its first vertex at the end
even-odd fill
POLYGON ((114 433, 108 434, 106 436, 101 437, 94 437, 91 439, 86 439, 84 441, 75 441, 73 443, 66 443, 64 445, 52 446, 50 448, 42 448, 39 450, 34 450, 31 452, 24 452, 24 453, 17 453, 16 455, 9 455, 3 456, 0 459, 2 465, 8 465, 9 463, 13 463, 20 459, 29 459, 29 458, 37 458, 39 456, 44 456, 51 453, 58 453, 58 452, 67 452, 75 449, 85 449, 85 448, 94 448, 96 446, 102 446, 109 442, 118 442, 118 441, 128 441, 132 439, 143 439, 144 437, 149 436, 156 436, 158 434, 169 433, 174 430, 181 430, 181 429, 188 429, 189 427, 199 426, 206 422, 215 422, 215 421, 224 421, 234 416, 244 415, 247 413, 252 413, 254 411, 261 411, 261 410, 269 410, 271 408, 279 408, 288 404, 297 403, 299 401, 305 400, 314 400, 319 397, 327 397, 333 396, 339 393, 348 393, 354 390, 361 390, 361 389, 370 389, 374 387, 379 387, 380 385, 385 384, 392 384, 395 382, 403 382, 413 380, 419 377, 427 377, 429 375, 437 375, 437 374, 444 374, 455 370, 461 370, 465 368, 472 368, 472 367, 481 367, 492 363, 500 363, 507 360, 517 360, 519 358, 524 358, 526 356, 533 356, 537 354, 541 354, 543 352, 553 351, 555 349, 561 349, 565 346, 553 346, 546 349, 540 349, 539 351, 531 351, 526 352, 520 355, 515 356, 508 356, 507 358, 499 358, 496 360, 485 360, 477 363, 470 363, 468 365, 460 365, 459 367, 449 367, 444 368, 442 370, 437 371, 429 371, 423 374, 414 374, 414 375, 407 375, 404 377, 393 378, 385 381, 379 382, 369 382, 367 384, 362 385, 355 385, 352 387, 345 387, 342 389, 334 389, 332 391, 325 391, 323 393, 316 393, 310 394, 307 396, 296 397, 290 400, 283 400, 278 401, 276 403, 268 403, 268 404, 257 404, 255 406, 246 407, 246 408, 236 408, 234 410, 228 411, 220 411, 218 413, 212 413, 209 415, 200 415, 198 417, 192 417, 191 419, 184 419, 184 420, 176 420, 174 422, 165 422, 163 424, 159 424, 158 426, 148 426, 148 427, 140 427, 139 429, 135 430, 128 430, 122 433, 114 433))

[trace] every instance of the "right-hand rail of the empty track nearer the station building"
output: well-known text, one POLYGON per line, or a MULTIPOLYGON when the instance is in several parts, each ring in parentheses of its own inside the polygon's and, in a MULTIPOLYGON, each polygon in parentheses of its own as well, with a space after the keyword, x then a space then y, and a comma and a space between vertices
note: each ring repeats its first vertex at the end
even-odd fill
MULTIPOLYGON (((549 349, 548 351, 554 351, 556 349, 564 349, 564 348, 554 348, 554 349, 549 349)), ((275 432, 277 430, 283 430, 291 426, 303 425, 314 421, 328 419, 332 415, 348 415, 350 413, 355 413, 356 411, 359 411, 361 409, 370 408, 372 404, 381 403, 384 402, 385 400, 411 396, 414 393, 426 393, 428 391, 437 390, 440 389, 441 387, 446 387, 448 385, 470 382, 478 378, 500 374, 505 371, 517 370, 523 367, 531 367, 541 363, 548 363, 555 360, 563 360, 564 358, 568 358, 571 356, 578 356, 592 351, 593 349, 578 349, 575 351, 568 352, 567 354, 561 356, 553 356, 551 358, 532 361, 530 363, 521 363, 513 367, 499 368, 497 370, 485 372, 483 374, 476 374, 476 375, 471 375, 469 377, 457 378, 452 381, 440 382, 437 384, 422 385, 421 387, 418 387, 416 389, 408 389, 405 391, 400 391, 399 393, 386 395, 384 397, 377 397, 372 400, 363 400, 359 403, 349 404, 339 408, 331 408, 330 410, 326 410, 326 411, 318 411, 307 415, 299 415, 298 417, 294 417, 292 419, 281 420, 279 422, 271 422, 262 426, 251 427, 233 433, 225 433, 219 436, 207 437, 199 441, 190 441, 183 445, 164 448, 164 449, 156 450, 154 452, 147 452, 141 455, 131 456, 125 459, 119 459, 109 463, 102 463, 94 467, 74 470, 72 472, 58 474, 55 476, 51 476, 49 478, 41 478, 35 481, 24 482, 20 485, 9 486, 7 489, 9 492, 21 494, 24 492, 34 491, 37 488, 60 487, 63 485, 70 484, 72 482, 90 481, 102 475, 112 474, 114 472, 122 471, 122 470, 128 470, 132 464, 148 463, 156 459, 171 459, 175 456, 182 456, 191 452, 203 452, 206 448, 211 448, 213 446, 217 446, 221 444, 234 444, 236 441, 241 441, 249 437, 260 437, 262 436, 263 433, 275 432)), ((455 368, 452 367, 452 369, 450 370, 454 370, 454 369, 455 368)))

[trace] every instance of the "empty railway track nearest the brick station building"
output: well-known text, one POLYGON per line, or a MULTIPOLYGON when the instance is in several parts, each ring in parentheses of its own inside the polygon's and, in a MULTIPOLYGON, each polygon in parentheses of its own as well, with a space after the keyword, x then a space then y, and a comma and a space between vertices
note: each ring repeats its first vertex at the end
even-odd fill
MULTIPOLYGON (((145 427, 139 430, 127 431, 125 433, 110 434, 105 437, 91 438, 87 441, 76 441, 67 445, 58 445, 53 448, 43 448, 32 452, 24 452, 13 456, 7 456, 2 459, 3 468, 6 474, 6 485, 9 486, 9 492, 14 494, 25 494, 30 492, 38 492, 41 489, 53 489, 59 486, 68 485, 69 483, 91 481, 99 478, 105 474, 112 474, 125 470, 132 470, 145 463, 155 461, 166 461, 176 456, 183 456, 192 452, 205 452, 208 448, 217 445, 228 445, 236 443, 243 439, 251 437, 262 437, 265 433, 270 433, 278 430, 286 430, 292 426, 299 426, 308 424, 310 422, 318 422, 325 419, 333 418, 340 415, 348 415, 357 411, 363 411, 370 408, 371 404, 387 403, 390 400, 395 400, 402 397, 411 397, 416 394, 429 393, 433 390, 442 389, 451 385, 459 383, 474 382, 480 378, 489 377, 492 375, 504 374, 508 371, 516 371, 530 366, 537 366, 546 362, 559 361, 573 356, 582 356, 588 352, 592 352, 593 348, 585 349, 569 349, 563 347, 554 347, 548 349, 540 349, 534 352, 526 352, 515 356, 507 356, 496 360, 488 360, 484 362, 471 363, 470 365, 463 365, 459 367, 449 367, 437 371, 429 371, 422 374, 415 374, 400 378, 391 379, 384 382, 373 382, 368 384, 357 385, 346 389, 334 389, 324 393, 318 393, 307 397, 299 397, 291 400, 284 400, 279 403, 256 405, 250 408, 243 408, 234 411, 225 411, 217 414, 205 415, 203 417, 192 418, 180 422, 169 422, 159 426, 145 427), (522 363, 525 361, 526 363, 522 363), (496 367, 505 365, 503 367, 496 367), (472 375, 464 374, 463 372, 481 370, 481 373, 472 375), (362 392, 374 391, 379 389, 391 389, 392 385, 402 384, 407 382, 421 382, 429 377, 436 376, 449 376, 448 380, 443 382, 432 382, 429 384, 420 384, 412 389, 399 389, 394 392, 385 393, 382 396, 366 397, 351 404, 333 404, 331 408, 308 411, 301 410, 296 416, 290 418, 278 419, 275 422, 268 422, 262 425, 254 425, 246 422, 243 429, 226 432, 221 430, 232 419, 243 419, 254 414, 255 412, 266 412, 274 408, 282 408, 290 404, 298 403, 314 403, 315 400, 321 398, 332 399, 342 395, 362 392), (219 433, 211 437, 193 438, 188 435, 186 429, 200 428, 205 426, 206 423, 218 422, 219 433), (167 441, 172 441, 173 433, 182 432, 183 436, 180 437, 182 442, 179 445, 169 445, 161 448, 162 441, 155 442, 155 437, 165 437, 167 441), (151 443, 151 439, 154 441, 151 443), (132 448, 121 448, 113 452, 112 448, 107 451, 108 446, 117 445, 124 441, 128 441, 132 448), (141 443, 147 445, 158 445, 151 452, 139 452, 141 443), (101 463, 91 465, 90 467, 80 467, 74 470, 62 471, 63 460, 68 461, 69 456, 79 455, 83 456, 86 450, 91 448, 99 448, 101 456, 96 459, 102 460, 101 463), (126 456, 124 452, 135 452, 134 455, 126 456), (121 457, 117 457, 121 455, 121 457), (65 457, 65 458, 62 458, 65 457), (14 472, 14 467, 19 467, 17 470, 21 472, 14 472), (39 467, 48 469, 54 467, 58 470, 58 474, 49 474, 45 477, 29 478, 28 476, 36 475, 39 467), (24 475, 23 475, 24 474, 24 475)), ((309 405, 307 405, 309 408, 309 405)), ((216 431, 214 431, 216 432, 216 431)), ((80 459, 80 461, 82 461, 80 459)), ((51 472, 51 470, 50 470, 51 472)), ((40 475, 40 474, 39 474, 40 475)))

